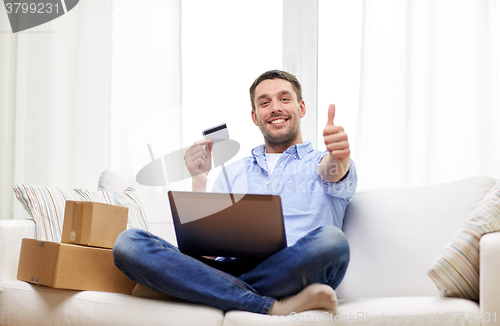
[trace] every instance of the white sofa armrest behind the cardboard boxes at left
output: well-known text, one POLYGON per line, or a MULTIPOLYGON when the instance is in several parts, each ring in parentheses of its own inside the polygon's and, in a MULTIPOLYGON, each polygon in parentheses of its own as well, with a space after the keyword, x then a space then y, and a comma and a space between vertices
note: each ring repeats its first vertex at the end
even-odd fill
POLYGON ((0 285, 17 279, 23 238, 35 238, 32 220, 0 220, 0 285))

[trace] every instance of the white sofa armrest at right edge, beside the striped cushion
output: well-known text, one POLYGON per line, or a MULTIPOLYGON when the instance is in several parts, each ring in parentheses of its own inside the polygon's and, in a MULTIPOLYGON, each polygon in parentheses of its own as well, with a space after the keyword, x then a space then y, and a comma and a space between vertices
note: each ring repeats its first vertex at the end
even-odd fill
POLYGON ((479 304, 482 316, 491 316, 489 323, 500 325, 500 232, 487 233, 479 241, 479 304), (496 313, 496 315, 493 315, 496 313), (496 322, 495 322, 496 317, 496 322))

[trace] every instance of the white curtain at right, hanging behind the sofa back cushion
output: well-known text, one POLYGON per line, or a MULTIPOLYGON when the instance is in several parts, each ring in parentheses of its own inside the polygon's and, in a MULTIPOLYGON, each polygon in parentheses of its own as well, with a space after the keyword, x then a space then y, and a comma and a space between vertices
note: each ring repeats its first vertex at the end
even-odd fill
POLYGON ((500 177, 495 0, 364 1, 360 186, 500 177))

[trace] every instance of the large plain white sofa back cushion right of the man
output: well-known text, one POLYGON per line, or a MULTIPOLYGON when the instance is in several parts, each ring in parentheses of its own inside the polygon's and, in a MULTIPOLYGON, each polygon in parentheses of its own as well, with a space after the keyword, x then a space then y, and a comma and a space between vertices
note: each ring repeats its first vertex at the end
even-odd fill
POLYGON ((344 220, 351 261, 338 297, 438 296, 429 267, 495 183, 475 177, 356 193, 344 220))

